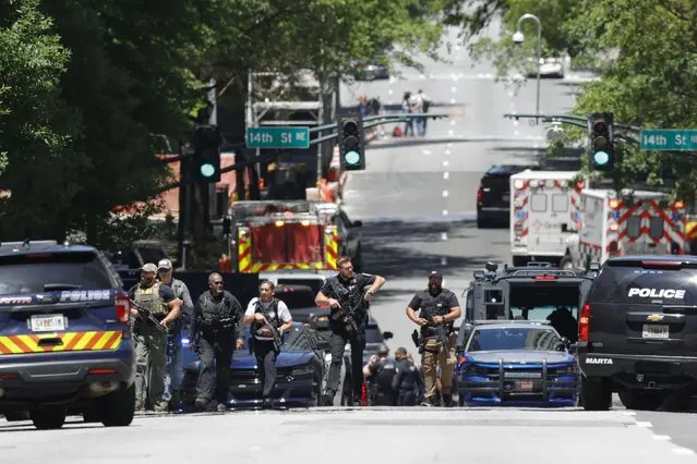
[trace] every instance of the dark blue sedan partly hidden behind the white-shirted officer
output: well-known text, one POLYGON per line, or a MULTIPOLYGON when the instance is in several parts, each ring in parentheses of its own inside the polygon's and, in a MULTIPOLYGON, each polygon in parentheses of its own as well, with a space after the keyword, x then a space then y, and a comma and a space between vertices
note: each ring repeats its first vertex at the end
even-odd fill
MULTIPOLYGON (((228 406, 231 408, 256 408, 262 403, 262 384, 256 358, 250 354, 249 326, 245 332, 245 346, 236 351, 230 364, 230 390, 228 406)), ((183 340, 188 345, 189 341, 183 340)), ((284 333, 284 345, 276 358, 277 381, 272 392, 276 407, 310 407, 321 405, 326 382, 327 364, 325 350, 328 341, 317 331, 295 322, 292 329, 284 333)), ((184 380, 182 403, 184 411, 193 410, 196 396, 200 361, 184 346, 184 380)))

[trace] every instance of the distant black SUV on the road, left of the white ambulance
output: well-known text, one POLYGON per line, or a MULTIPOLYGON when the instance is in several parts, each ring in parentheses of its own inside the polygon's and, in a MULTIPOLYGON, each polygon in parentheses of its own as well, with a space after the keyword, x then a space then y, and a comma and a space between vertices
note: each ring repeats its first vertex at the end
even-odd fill
POLYGON ((492 166, 477 190, 477 227, 508 227, 510 222, 510 175, 529 166, 492 166))

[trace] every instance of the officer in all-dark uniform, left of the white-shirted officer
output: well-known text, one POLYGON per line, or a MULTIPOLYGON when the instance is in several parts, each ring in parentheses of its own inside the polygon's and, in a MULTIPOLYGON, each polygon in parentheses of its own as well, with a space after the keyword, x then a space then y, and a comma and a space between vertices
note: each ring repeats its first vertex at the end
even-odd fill
POLYGON ((223 289, 223 276, 219 273, 208 276, 208 289, 196 301, 189 329, 192 349, 199 352, 201 359, 194 406, 199 411, 207 410, 215 395, 217 410, 224 412, 227 410, 230 386, 228 369, 232 362, 233 344, 237 350, 244 345, 244 312, 240 302, 223 289))

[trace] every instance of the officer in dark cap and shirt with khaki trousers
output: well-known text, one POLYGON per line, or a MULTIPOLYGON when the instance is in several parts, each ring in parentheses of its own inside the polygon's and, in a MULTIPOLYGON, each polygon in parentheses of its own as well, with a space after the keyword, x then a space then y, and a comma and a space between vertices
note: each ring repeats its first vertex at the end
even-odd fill
POLYGON ((407 317, 421 327, 421 339, 423 340, 423 354, 421 355, 421 366, 425 381, 425 398, 422 405, 436 405, 436 368, 441 365, 442 398, 446 407, 452 405, 450 388, 453 387, 453 373, 455 370, 455 345, 457 334, 453 330, 453 321, 459 318, 461 310, 457 296, 447 289, 443 289, 443 276, 438 272, 431 272, 429 276, 429 288, 413 295, 407 306, 407 317), (417 317, 416 312, 419 310, 417 317), (447 343, 436 341, 437 333, 435 326, 444 325, 447 334, 447 343), (449 353, 449 358, 448 358, 449 353))

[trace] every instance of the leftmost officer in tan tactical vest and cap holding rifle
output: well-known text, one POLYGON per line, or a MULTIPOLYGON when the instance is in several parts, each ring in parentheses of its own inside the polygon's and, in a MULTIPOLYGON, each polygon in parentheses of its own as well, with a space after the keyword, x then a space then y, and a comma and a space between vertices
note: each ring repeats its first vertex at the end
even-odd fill
MULTIPOLYGON (((145 264, 141 268, 141 281, 131 288, 129 295, 137 306, 149 310, 163 326, 169 327, 179 317, 181 301, 169 285, 155 279, 156 274, 157 266, 153 262, 145 264)), ((169 408, 164 399, 167 333, 143 317, 135 305, 131 307, 131 314, 136 316, 133 325, 135 408, 143 411, 149 400, 154 411, 166 412, 169 408)))

